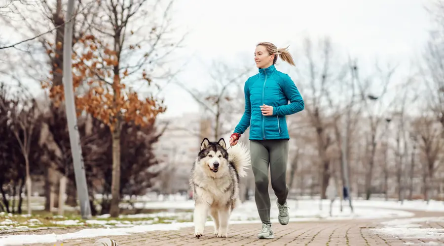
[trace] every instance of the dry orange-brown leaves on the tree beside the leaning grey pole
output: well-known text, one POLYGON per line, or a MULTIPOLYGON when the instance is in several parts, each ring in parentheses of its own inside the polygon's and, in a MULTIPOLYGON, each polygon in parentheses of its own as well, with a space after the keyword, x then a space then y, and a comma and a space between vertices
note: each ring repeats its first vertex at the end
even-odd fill
MULTIPOLYGON (((120 65, 116 52, 94 36, 87 35, 79 40, 74 46, 72 59, 77 116, 86 112, 113 130, 118 121, 145 125, 153 123, 159 113, 165 112, 163 102, 152 97, 141 99, 137 92, 126 88, 122 79, 128 76, 128 70, 114 74, 120 65)), ((145 71, 141 77, 149 86, 151 80, 145 71)), ((56 105, 65 99, 63 85, 52 85, 48 80, 41 86, 56 105)))

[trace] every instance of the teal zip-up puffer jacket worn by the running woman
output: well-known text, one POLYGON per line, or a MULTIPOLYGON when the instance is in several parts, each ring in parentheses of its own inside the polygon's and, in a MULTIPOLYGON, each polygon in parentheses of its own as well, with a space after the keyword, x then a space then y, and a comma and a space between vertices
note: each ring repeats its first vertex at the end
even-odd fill
POLYGON ((234 133, 243 134, 250 126, 250 140, 290 139, 286 116, 304 109, 304 100, 288 74, 274 65, 248 78, 244 86, 245 112, 234 133), (290 101, 290 103, 288 103, 290 101), (272 116, 263 116, 261 105, 273 107, 272 116))

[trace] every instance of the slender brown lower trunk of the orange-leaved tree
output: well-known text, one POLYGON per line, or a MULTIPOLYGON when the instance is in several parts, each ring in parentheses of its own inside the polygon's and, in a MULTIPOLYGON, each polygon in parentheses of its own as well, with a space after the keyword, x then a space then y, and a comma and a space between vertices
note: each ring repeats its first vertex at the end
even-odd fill
POLYGON ((112 131, 112 183, 111 183, 110 215, 119 215, 120 201, 120 123, 116 123, 112 131))

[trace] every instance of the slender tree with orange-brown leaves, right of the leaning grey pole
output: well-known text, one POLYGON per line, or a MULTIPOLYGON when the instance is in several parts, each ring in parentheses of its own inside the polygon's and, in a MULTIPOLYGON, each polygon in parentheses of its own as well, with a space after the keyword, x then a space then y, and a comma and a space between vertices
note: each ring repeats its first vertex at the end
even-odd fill
MULTIPOLYGON (((93 44, 94 47, 90 48, 101 49, 104 52, 99 54, 101 57, 110 58, 112 55, 111 59, 106 59, 106 64, 101 59, 96 59, 97 63, 102 62, 100 65, 103 65, 102 71, 96 72, 97 67, 87 68, 92 71, 95 79, 104 83, 107 90, 112 92, 113 97, 110 98, 114 105, 112 110, 116 111, 110 119, 108 117, 102 119, 111 124, 112 134, 111 216, 119 215, 121 128, 125 119, 132 114, 129 111, 125 114, 120 110, 121 96, 124 95, 121 89, 127 86, 131 92, 136 90, 139 92, 150 88, 148 86, 154 84, 153 80, 172 75, 171 71, 164 68, 168 62, 166 58, 180 47, 184 40, 184 37, 174 40, 170 36, 174 31, 170 17, 172 3, 173 1, 160 0, 151 4, 148 0, 99 1, 99 12, 92 21, 94 39, 97 41, 93 44), (164 2, 166 5, 162 5, 164 2), (107 44, 111 44, 111 47, 107 44), (139 89, 136 89, 136 86, 139 89)), ((154 99, 154 93, 151 91, 147 93, 147 97, 151 98, 150 101, 147 99, 147 104, 152 103, 153 107, 157 107, 160 103, 155 103, 157 99, 154 99)), ((143 119, 151 122, 155 119, 154 112, 162 111, 163 108, 159 111, 152 110, 143 119)))

